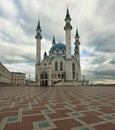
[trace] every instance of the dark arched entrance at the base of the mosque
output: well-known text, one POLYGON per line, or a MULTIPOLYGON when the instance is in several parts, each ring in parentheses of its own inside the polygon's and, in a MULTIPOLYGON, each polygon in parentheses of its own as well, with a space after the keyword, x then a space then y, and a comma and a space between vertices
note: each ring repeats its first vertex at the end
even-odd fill
POLYGON ((40 86, 48 86, 48 74, 44 71, 40 75, 40 86))

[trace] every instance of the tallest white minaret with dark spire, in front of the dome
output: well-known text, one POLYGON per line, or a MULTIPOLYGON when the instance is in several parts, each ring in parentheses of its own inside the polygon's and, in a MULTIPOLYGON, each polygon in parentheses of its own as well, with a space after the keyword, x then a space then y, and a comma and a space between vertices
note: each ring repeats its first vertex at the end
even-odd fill
POLYGON ((71 30, 72 30, 72 26, 71 26, 71 18, 70 18, 70 14, 69 14, 69 9, 67 8, 67 13, 66 13, 66 17, 65 17, 65 33, 66 33, 66 59, 70 59, 71 58, 71 30))

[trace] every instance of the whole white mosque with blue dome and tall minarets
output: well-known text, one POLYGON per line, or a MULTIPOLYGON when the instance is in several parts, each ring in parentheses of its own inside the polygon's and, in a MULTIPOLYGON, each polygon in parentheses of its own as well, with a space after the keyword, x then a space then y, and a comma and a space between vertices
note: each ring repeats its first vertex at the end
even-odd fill
POLYGON ((52 47, 49 54, 44 52, 41 60, 41 26, 38 21, 36 29, 36 67, 35 78, 37 86, 54 85, 77 85, 81 81, 80 67, 80 41, 78 30, 76 29, 74 54, 71 55, 71 17, 67 8, 65 17, 65 44, 56 43, 53 36, 52 47))

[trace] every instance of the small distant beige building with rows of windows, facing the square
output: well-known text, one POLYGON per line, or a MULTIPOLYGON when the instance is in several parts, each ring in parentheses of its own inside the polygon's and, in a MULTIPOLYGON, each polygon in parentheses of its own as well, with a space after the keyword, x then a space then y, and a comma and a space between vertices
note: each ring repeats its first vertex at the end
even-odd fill
POLYGON ((20 72, 11 72, 11 84, 16 86, 25 85, 26 74, 20 72))

